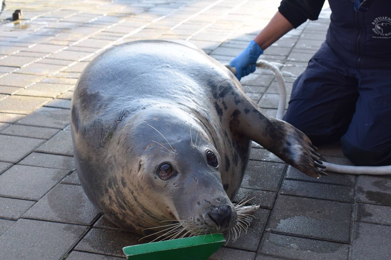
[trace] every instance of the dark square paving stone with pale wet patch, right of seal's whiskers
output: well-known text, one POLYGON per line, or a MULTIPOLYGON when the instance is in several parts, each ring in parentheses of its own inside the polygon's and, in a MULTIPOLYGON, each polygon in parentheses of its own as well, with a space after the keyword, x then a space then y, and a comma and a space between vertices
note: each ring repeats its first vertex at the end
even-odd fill
POLYGON ((267 231, 349 243, 352 205, 280 195, 267 231))

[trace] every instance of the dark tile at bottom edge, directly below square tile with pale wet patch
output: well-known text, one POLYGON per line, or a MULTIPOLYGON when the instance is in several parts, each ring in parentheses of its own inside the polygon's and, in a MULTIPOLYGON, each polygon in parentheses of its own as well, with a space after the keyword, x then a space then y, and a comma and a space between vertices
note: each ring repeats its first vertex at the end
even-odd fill
MULTIPOLYGON (((335 242, 265 233, 260 253, 288 259, 346 260, 349 246, 335 242)), ((256 260, 262 260, 257 256, 256 260)))

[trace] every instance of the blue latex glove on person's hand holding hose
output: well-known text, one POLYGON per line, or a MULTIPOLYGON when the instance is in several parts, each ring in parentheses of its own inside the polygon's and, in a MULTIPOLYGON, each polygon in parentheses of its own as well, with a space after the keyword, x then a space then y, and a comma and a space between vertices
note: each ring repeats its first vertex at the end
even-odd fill
POLYGON ((238 80, 255 71, 255 63, 262 53, 261 47, 255 41, 250 41, 246 49, 230 62, 230 66, 236 69, 238 80))

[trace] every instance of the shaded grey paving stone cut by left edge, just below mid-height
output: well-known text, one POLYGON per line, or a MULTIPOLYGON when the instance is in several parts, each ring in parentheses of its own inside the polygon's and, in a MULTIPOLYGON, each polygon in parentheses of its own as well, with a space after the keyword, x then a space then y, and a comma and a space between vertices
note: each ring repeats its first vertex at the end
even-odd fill
POLYGON ((0 150, 0 160, 16 163, 43 142, 43 140, 36 138, 0 135, 0 143, 5 147, 0 150))

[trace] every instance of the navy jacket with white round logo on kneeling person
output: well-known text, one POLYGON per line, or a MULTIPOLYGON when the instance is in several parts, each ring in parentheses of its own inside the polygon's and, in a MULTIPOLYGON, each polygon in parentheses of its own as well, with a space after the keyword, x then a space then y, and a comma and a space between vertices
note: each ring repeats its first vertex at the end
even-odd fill
MULTIPOLYGON (((316 20, 325 0, 283 0, 278 10, 296 28, 316 20)), ((332 11, 326 42, 350 68, 391 71, 391 1, 373 0, 357 12, 352 0, 329 0, 332 11)))

